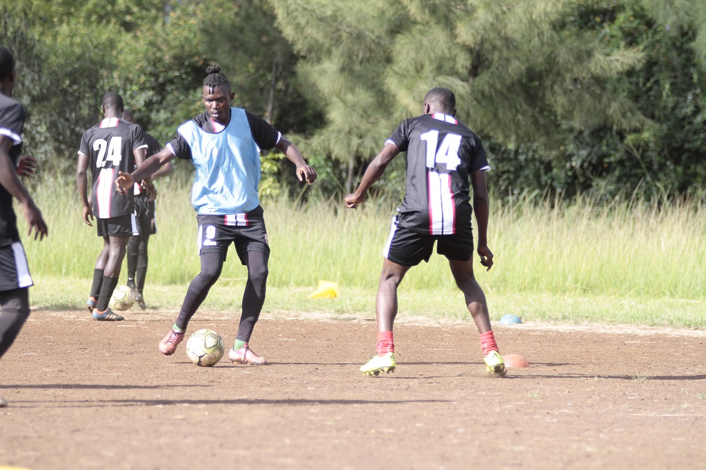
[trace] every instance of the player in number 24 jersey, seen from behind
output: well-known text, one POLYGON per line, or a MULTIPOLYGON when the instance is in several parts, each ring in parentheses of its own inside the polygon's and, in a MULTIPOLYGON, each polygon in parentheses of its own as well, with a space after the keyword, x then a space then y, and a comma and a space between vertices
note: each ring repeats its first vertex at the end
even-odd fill
MULTIPOLYGON (((86 306, 94 320, 117 321, 123 318, 108 308, 108 301, 118 283, 128 240, 138 234, 138 228, 133 195, 120 195, 115 180, 119 171, 133 171, 143 163, 148 143, 140 126, 120 119, 124 110, 120 95, 108 93, 102 107, 102 121, 81 138, 76 184, 83 202, 83 222, 92 227, 95 216, 98 236, 103 238, 86 306), (93 179, 90 202, 86 195, 89 167, 93 179)), ((149 187, 152 182, 148 179, 145 184, 149 187)))

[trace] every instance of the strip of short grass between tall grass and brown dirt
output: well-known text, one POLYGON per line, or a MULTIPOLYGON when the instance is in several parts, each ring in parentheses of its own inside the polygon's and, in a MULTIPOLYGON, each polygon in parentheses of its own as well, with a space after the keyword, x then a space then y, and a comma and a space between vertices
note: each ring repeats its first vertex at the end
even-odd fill
MULTIPOLYGON (((194 276, 194 269, 189 276, 194 276)), ((76 277, 34 276, 30 289, 32 308, 71 310, 84 308, 91 279, 76 277)), ((189 279, 191 280, 191 279, 189 279)), ((124 282, 124 279, 121 280, 124 282)), ((189 282, 145 286, 145 301, 150 308, 178 311, 189 282)), ((221 277, 211 288, 201 311, 240 312, 245 289, 244 278, 221 277)), ((340 286, 334 299, 310 299, 316 284, 304 287, 268 286, 265 313, 328 313, 375 318, 376 289, 340 286)), ((449 289, 399 289, 399 317, 421 316, 431 320, 472 321, 463 295, 455 287, 449 289)), ((520 315, 522 321, 560 323, 602 323, 606 325, 650 325, 674 328, 706 328, 703 306, 697 303, 675 303, 671 299, 618 299, 609 296, 566 296, 551 294, 489 294, 491 320, 497 322, 505 313, 520 315)))

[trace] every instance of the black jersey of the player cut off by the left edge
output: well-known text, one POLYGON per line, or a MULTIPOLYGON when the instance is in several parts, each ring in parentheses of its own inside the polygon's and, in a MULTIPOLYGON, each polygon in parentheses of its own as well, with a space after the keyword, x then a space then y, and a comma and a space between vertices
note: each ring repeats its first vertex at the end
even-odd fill
MULTIPOLYGON (((25 126, 25 107, 0 93, 0 135, 12 140, 10 159, 14 167, 22 153, 22 131, 25 126)), ((12 195, 0 186, 0 246, 20 239, 17 218, 12 207, 12 195)))

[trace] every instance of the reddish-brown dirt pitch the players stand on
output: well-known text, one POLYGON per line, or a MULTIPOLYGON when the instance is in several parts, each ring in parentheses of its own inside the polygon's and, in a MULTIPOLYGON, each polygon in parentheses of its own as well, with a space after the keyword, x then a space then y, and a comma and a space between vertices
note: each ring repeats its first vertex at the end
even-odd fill
MULTIPOLYGON (((706 469, 706 331, 496 325, 530 368, 491 378, 472 323, 400 314, 397 370, 358 373, 373 320, 268 315, 269 366, 157 351, 174 312, 33 312, 0 361, 0 468, 706 469)), ((232 315, 197 313, 232 345, 232 315)))

